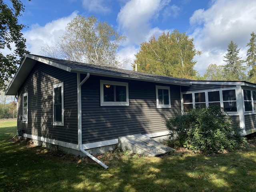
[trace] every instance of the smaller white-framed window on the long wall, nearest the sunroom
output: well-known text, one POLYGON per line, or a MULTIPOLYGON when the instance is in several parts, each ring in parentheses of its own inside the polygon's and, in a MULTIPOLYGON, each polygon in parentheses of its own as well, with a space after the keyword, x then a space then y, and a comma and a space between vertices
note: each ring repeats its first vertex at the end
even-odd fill
POLYGON ((156 108, 171 108, 170 87, 156 86, 156 108))

